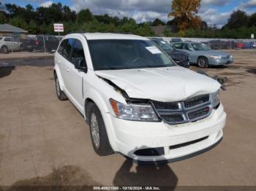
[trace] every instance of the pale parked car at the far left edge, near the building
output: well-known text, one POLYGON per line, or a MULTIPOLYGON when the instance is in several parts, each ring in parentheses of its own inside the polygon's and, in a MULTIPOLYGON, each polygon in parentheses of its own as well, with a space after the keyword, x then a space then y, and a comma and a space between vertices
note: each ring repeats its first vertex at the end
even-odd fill
POLYGON ((0 36, 0 50, 2 53, 20 50, 20 42, 12 36, 0 36))

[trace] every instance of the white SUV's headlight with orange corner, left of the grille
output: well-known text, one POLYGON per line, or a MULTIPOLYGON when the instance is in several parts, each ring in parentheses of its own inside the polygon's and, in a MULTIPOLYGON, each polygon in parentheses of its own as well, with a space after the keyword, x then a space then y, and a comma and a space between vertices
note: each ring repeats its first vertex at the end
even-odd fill
POLYGON ((148 104, 121 104, 110 99, 110 105, 116 117, 122 120, 157 122, 157 114, 151 105, 148 104))

